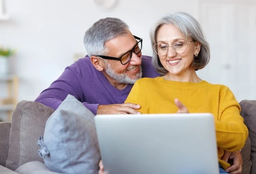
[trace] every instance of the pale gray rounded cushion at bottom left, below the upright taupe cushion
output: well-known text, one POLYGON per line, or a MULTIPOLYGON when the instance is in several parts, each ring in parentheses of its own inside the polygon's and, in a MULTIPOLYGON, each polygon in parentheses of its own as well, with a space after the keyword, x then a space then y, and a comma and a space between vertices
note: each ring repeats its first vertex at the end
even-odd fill
POLYGON ((48 169, 43 162, 32 161, 23 164, 15 170, 19 174, 58 174, 48 169))

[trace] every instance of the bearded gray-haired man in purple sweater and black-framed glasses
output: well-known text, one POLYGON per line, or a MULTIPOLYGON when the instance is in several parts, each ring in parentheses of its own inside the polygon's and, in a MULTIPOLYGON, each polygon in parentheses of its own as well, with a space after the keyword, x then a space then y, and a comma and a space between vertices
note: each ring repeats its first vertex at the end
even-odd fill
MULTIPOLYGON (((126 97, 136 80, 159 76, 151 65, 151 57, 141 53, 142 39, 133 36, 122 20, 104 18, 86 31, 84 45, 88 55, 66 67, 35 101, 57 109, 70 94, 94 115, 139 114, 136 109, 140 106, 124 103, 126 97)), ((177 107, 186 112, 182 103, 177 107)), ((236 168, 242 161, 238 155, 233 165, 236 168)))

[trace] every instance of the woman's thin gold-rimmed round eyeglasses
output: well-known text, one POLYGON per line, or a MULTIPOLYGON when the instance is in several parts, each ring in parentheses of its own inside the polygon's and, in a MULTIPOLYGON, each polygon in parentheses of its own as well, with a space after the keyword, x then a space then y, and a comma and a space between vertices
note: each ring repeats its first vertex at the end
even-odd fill
POLYGON ((160 56, 166 55, 169 47, 172 47, 172 49, 176 53, 182 54, 187 50, 188 43, 191 43, 191 42, 194 42, 194 40, 192 40, 190 42, 186 42, 185 40, 179 40, 177 42, 174 42, 170 46, 166 43, 156 43, 156 44, 154 44, 153 48, 154 48, 154 51, 160 56))

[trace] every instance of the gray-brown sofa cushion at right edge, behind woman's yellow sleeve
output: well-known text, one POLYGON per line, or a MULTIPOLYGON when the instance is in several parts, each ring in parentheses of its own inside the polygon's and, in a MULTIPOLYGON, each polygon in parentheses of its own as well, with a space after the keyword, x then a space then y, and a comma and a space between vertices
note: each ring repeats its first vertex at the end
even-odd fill
POLYGON ((243 100, 239 104, 242 108, 240 114, 248 127, 251 140, 251 174, 256 174, 256 100, 243 100))

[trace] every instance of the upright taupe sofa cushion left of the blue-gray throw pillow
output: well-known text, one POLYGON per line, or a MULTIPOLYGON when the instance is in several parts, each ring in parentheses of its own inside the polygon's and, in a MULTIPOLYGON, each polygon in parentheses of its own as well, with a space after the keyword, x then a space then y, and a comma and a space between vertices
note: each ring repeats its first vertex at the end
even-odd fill
POLYGON ((21 101, 12 115, 9 154, 6 167, 16 170, 30 161, 41 161, 36 142, 44 133, 46 120, 54 109, 34 101, 21 101))

